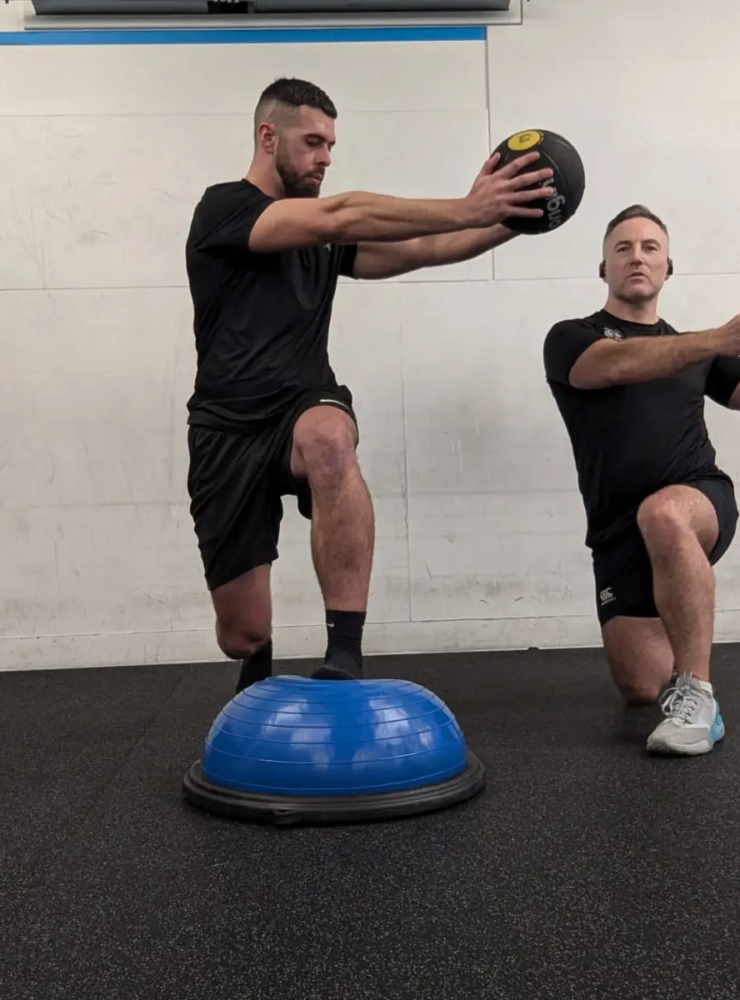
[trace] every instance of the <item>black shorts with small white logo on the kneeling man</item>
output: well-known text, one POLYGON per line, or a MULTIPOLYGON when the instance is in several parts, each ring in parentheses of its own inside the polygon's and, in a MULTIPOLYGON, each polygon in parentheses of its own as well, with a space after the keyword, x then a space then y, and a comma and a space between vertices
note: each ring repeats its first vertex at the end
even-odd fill
MULTIPOLYGON (((682 485, 700 490, 717 512, 719 535, 709 556, 714 566, 735 537, 738 509, 732 483, 707 477, 682 485)), ((601 625, 611 618, 659 618, 653 599, 653 570, 635 513, 607 542, 593 550, 596 607, 601 625)))

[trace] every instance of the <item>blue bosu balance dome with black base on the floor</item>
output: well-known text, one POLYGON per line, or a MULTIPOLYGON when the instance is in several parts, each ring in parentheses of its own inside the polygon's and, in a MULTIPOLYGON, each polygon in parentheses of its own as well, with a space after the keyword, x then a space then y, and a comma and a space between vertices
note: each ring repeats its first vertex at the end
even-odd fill
POLYGON ((222 709, 183 789, 211 812, 290 824, 415 815, 484 784, 454 715, 421 685, 281 676, 222 709))

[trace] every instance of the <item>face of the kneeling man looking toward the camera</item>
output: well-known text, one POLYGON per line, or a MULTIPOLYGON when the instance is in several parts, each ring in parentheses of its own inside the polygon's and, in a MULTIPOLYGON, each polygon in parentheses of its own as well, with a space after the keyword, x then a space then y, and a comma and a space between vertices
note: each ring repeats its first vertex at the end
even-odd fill
POLYGON ((609 234, 604 248, 606 283, 621 302, 657 299, 668 271, 668 237, 650 219, 627 219, 609 234))

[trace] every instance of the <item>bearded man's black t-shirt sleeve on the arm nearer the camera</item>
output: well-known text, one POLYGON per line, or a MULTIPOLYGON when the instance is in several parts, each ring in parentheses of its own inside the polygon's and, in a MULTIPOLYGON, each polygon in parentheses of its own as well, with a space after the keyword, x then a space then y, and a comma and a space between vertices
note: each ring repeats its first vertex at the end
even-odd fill
POLYGON ((246 186, 207 192, 193 219, 195 249, 247 253, 252 228, 273 200, 262 191, 246 186))

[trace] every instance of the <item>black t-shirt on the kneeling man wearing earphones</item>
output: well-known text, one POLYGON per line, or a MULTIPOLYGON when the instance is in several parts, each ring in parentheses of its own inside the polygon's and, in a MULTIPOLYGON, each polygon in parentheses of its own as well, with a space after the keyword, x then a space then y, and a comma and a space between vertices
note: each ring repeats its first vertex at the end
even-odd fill
POLYGON ((576 389, 569 383, 580 355, 604 337, 675 334, 663 320, 627 323, 600 310, 557 323, 545 338, 545 373, 570 437, 589 546, 618 531, 656 490, 725 475, 715 464, 704 396, 727 405, 740 383, 740 358, 715 358, 670 378, 606 389, 576 389))

